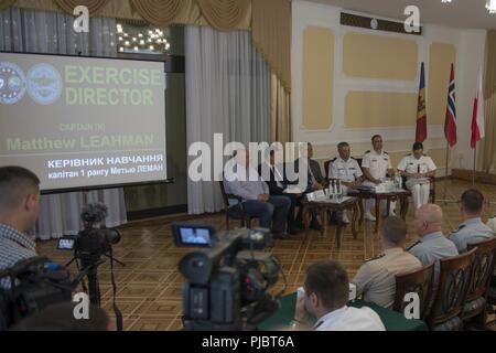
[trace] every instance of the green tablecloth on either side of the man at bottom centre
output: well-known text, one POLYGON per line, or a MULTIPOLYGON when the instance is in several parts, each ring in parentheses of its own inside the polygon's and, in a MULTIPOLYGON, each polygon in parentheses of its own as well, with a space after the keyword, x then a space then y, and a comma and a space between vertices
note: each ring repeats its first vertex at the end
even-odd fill
MULTIPOLYGON (((288 329, 289 323, 294 318, 294 307, 296 304, 296 293, 281 298, 281 309, 272 317, 258 325, 260 331, 272 331, 288 329)), ((387 331, 427 331, 427 324, 421 320, 407 320, 401 313, 376 306, 371 302, 355 300, 349 302, 349 307, 373 309, 382 320, 387 331)))

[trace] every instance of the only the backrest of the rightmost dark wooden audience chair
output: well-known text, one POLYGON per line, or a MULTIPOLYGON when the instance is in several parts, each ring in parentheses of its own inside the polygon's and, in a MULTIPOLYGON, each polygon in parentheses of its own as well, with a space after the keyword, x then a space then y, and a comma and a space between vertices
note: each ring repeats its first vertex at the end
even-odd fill
POLYGON ((476 244, 468 244, 467 248, 468 250, 477 249, 475 252, 472 280, 466 296, 466 300, 472 301, 487 295, 496 265, 496 237, 476 244))

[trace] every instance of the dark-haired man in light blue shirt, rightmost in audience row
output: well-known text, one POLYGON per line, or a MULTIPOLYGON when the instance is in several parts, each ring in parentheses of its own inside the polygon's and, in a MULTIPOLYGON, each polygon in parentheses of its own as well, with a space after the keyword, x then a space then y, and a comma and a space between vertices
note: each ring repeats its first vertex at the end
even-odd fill
POLYGON ((483 205, 484 196, 478 190, 470 189, 462 194, 460 211, 463 222, 459 229, 449 236, 459 253, 465 253, 468 244, 479 243, 495 235, 481 220, 483 205))

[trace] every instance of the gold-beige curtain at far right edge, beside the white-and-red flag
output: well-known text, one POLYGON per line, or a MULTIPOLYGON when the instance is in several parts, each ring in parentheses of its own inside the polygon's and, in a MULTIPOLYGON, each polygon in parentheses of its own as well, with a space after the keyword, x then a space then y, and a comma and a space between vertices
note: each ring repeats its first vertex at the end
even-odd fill
POLYGON ((481 143, 478 168, 488 173, 496 172, 496 31, 487 32, 484 98, 486 133, 481 143))

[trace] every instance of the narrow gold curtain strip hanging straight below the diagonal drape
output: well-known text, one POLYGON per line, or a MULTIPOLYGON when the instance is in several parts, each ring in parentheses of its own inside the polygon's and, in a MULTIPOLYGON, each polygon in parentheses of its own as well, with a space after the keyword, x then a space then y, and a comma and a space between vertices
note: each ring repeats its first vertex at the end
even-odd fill
POLYGON ((271 79, 271 139, 272 142, 291 142, 291 95, 276 74, 271 79))

